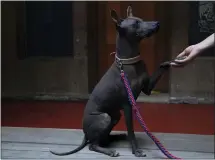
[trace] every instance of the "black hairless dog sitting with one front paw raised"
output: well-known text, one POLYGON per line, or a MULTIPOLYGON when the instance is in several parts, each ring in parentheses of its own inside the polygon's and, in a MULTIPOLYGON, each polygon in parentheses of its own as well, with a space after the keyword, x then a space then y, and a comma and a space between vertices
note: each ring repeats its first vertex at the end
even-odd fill
MULTIPOLYGON (((130 82, 134 98, 137 99, 142 91, 150 95, 162 74, 170 68, 169 62, 160 65, 156 72, 150 76, 144 61, 140 59, 139 44, 144 38, 150 37, 159 29, 159 22, 143 21, 132 15, 132 8, 127 8, 127 17, 120 19, 115 10, 111 10, 111 18, 116 26, 116 58, 99 83, 95 86, 86 104, 83 115, 83 132, 85 134, 82 144, 75 150, 55 155, 69 155, 83 149, 89 144, 91 151, 106 154, 111 157, 119 156, 115 150, 105 148, 110 140, 110 132, 119 122, 124 111, 127 126, 128 140, 132 153, 137 157, 146 154, 138 148, 132 120, 132 107, 129 104, 126 89, 120 77, 120 65, 130 82), (120 62, 120 63, 119 63, 120 62)), ((122 135, 121 135, 122 136, 122 135)))

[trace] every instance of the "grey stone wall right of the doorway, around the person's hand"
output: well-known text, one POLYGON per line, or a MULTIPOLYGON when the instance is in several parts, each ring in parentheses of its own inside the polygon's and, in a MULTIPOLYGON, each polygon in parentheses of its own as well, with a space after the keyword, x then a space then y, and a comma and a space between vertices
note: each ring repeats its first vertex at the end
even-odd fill
MULTIPOLYGON (((175 58, 188 46, 188 3, 174 2, 172 12, 171 56, 175 58)), ((172 69, 170 99, 192 99, 196 103, 197 101, 213 103, 214 62, 214 57, 198 57, 184 68, 172 69)))

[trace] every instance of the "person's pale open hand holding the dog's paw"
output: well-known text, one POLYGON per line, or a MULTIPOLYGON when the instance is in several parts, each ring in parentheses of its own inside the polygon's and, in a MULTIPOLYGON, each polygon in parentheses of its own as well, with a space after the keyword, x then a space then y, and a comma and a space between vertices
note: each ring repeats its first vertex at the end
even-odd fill
POLYGON ((194 60, 199 53, 201 53, 200 47, 198 45, 191 45, 181 52, 170 65, 173 67, 184 67, 194 60))

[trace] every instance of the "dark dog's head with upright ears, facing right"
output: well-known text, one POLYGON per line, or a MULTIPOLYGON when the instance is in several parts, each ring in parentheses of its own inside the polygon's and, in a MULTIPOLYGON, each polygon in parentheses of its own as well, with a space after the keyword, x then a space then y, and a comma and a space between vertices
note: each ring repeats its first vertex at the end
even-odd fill
POLYGON ((159 29, 159 22, 157 21, 144 21, 141 18, 134 17, 131 6, 127 8, 127 17, 125 19, 119 18, 113 9, 110 14, 119 36, 125 37, 132 42, 150 37, 159 29))

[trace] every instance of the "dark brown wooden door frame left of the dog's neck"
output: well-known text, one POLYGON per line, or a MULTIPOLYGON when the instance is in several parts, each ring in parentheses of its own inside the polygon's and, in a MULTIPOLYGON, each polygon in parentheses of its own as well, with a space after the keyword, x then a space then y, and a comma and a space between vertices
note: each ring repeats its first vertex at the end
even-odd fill
MULTIPOLYGON (((106 53, 106 6, 108 2, 87 2, 88 92, 100 79, 101 63, 106 53)), ((104 65, 104 64, 103 64, 104 65)), ((108 64, 105 64, 108 67, 108 64)))

